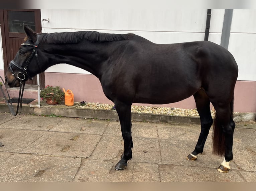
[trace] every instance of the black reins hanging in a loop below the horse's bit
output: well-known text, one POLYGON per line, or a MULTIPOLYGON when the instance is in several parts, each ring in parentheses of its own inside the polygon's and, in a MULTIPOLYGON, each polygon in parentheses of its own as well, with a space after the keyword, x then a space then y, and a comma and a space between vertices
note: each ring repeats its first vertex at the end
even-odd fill
MULTIPOLYGON (((1 78, 1 80, 2 80, 2 82, 3 82, 3 85, 4 85, 5 89, 6 89, 6 86, 5 86, 5 83, 4 83, 3 78, 2 78, 1 76, 0 76, 0 78, 1 78)), ((18 98, 18 104, 17 104, 16 113, 14 112, 14 108, 13 108, 13 105, 12 105, 12 101, 11 101, 11 98, 10 98, 10 95, 9 95, 7 89, 6 89, 6 92, 7 92, 7 95, 8 95, 8 97, 9 97, 9 101, 8 101, 8 99, 7 99, 7 97, 6 97, 5 93, 4 93, 4 90, 3 90, 2 86, 0 86, 1 92, 3 93, 4 98, 5 98, 5 101, 6 101, 7 105, 8 105, 8 107, 9 107, 11 113, 12 113, 14 116, 17 115, 18 112, 19 112, 19 105, 20 105, 20 113, 21 113, 21 109, 22 109, 22 97, 23 97, 25 82, 20 81, 19 84, 20 84, 20 86, 19 86, 20 90, 19 90, 19 98, 18 98), (23 85, 23 86, 22 86, 22 85, 23 85), (22 92, 21 92, 21 89, 22 89, 22 92)), ((20 114, 20 113, 19 113, 19 114, 20 114)))

